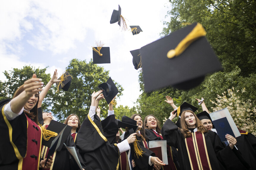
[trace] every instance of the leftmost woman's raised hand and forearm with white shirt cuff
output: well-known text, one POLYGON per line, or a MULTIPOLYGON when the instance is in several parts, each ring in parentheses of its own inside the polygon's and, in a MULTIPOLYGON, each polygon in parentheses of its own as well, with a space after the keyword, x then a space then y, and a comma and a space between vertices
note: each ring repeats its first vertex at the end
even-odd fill
POLYGON ((41 91, 42 87, 42 79, 36 78, 36 74, 33 74, 32 79, 24 82, 24 91, 10 101, 12 111, 18 114, 29 98, 41 91))

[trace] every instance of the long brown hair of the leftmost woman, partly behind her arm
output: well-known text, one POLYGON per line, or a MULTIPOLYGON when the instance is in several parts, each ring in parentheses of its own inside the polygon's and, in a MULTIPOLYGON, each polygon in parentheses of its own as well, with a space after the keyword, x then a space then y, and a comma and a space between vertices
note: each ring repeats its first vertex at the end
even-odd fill
MULTIPOLYGON (((13 98, 17 97, 23 91, 24 91, 24 84, 21 85, 20 87, 18 87, 18 89, 15 91, 15 93, 13 95, 13 98)), ((39 101, 39 93, 38 93, 38 101, 39 101)), ((36 124, 38 124, 38 111, 37 111, 38 101, 37 101, 37 103, 35 104, 35 106, 31 110, 28 110, 29 112, 24 110, 24 113, 28 117, 32 118, 35 121, 36 124)))

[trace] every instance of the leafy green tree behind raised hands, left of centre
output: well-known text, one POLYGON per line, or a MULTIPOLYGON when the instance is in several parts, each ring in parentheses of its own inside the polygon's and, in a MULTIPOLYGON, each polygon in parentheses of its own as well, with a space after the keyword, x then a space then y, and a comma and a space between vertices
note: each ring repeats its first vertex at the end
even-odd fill
MULTIPOLYGON (((72 59, 66 68, 73 77, 68 91, 60 90, 56 92, 56 88, 51 88, 52 93, 46 98, 48 107, 46 110, 51 111, 59 121, 64 121, 68 115, 75 113, 79 116, 82 122, 87 116, 91 105, 91 94, 93 91, 98 91, 98 85, 106 82, 109 78, 109 71, 105 71, 103 67, 72 59)), ((119 90, 118 96, 122 95, 123 88, 118 83, 115 83, 119 90)), ((50 91, 49 90, 49 91, 50 91)), ((108 105, 102 99, 99 103, 101 114, 107 116, 108 105)))

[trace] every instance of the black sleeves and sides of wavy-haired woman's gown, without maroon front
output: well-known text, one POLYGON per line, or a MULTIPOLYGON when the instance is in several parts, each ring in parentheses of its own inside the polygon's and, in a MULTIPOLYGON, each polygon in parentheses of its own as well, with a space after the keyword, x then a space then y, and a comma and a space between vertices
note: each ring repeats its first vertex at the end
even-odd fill
MULTIPOLYGON (((161 129, 161 134, 163 135, 163 138, 167 140, 167 144, 178 149, 180 168, 191 170, 185 138, 178 130, 178 126, 167 119, 161 129)), ((233 161, 238 161, 238 158, 229 146, 223 146, 215 132, 209 131, 203 135, 205 137, 205 144, 212 169, 238 169, 237 164, 233 163, 233 161), (234 167, 234 165, 236 167, 234 167)), ((198 143, 198 146, 203 146, 203 143, 198 143)), ((240 165, 239 167, 243 167, 243 165, 240 165)))

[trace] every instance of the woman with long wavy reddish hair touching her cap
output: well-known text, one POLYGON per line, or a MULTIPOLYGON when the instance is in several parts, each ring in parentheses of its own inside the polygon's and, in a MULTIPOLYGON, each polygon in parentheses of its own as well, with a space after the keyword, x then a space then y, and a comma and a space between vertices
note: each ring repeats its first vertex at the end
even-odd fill
MULTIPOLYGON (((181 169, 237 169, 232 161, 238 160, 232 149, 236 139, 227 134, 229 145, 224 148, 218 135, 208 131, 196 117, 196 107, 184 102, 177 110, 171 112, 161 129, 167 144, 179 151, 181 169), (171 120, 180 114, 181 129, 171 120)), ((242 165, 241 165, 242 166, 242 165)))

